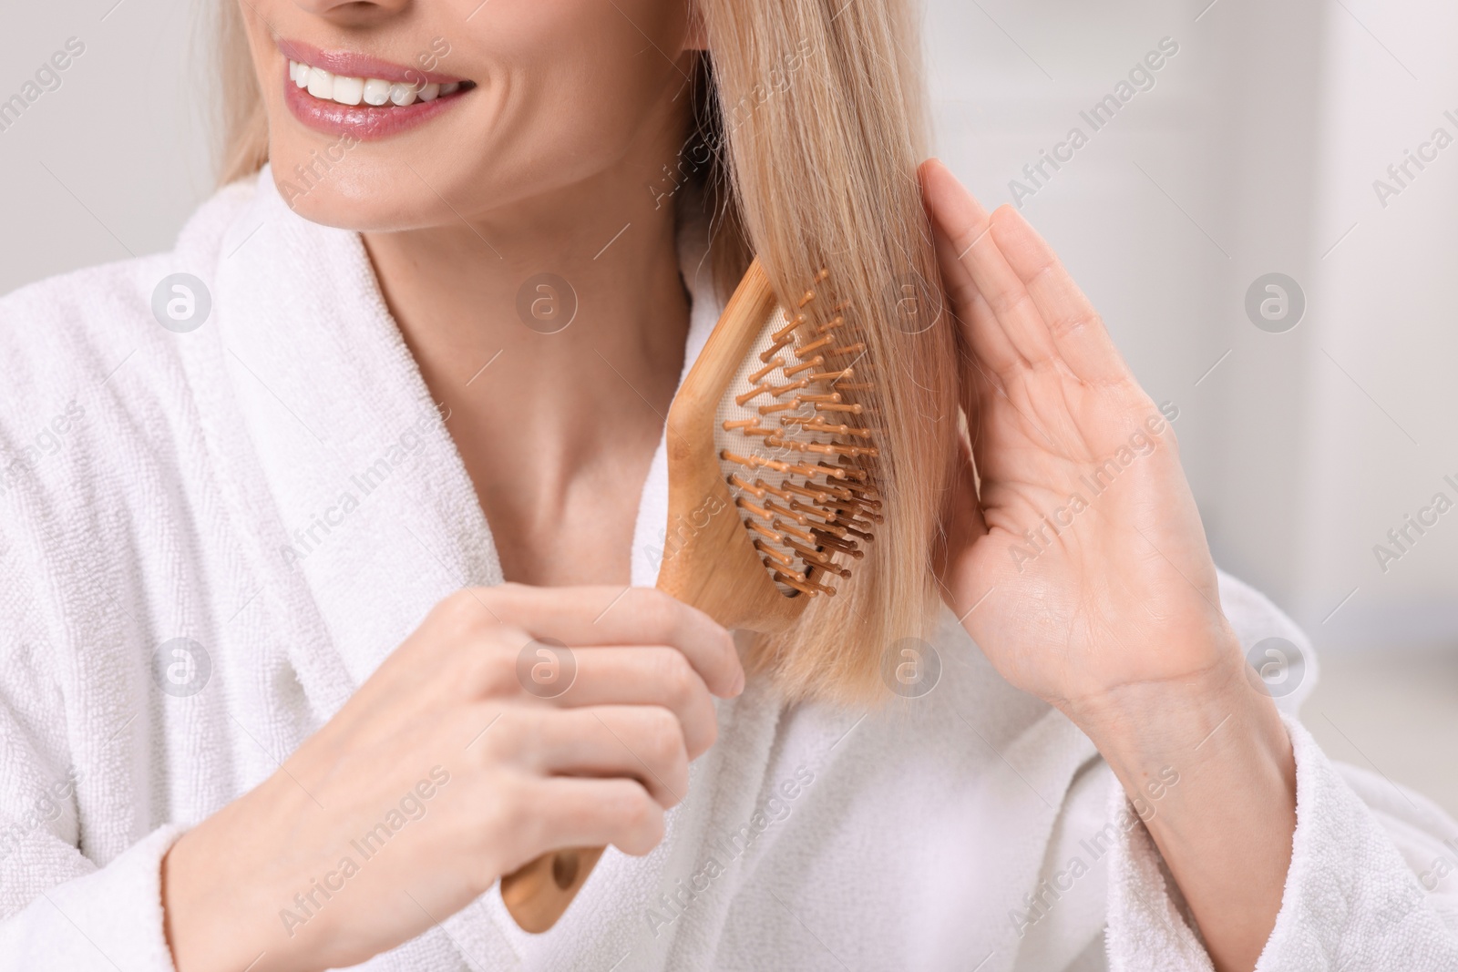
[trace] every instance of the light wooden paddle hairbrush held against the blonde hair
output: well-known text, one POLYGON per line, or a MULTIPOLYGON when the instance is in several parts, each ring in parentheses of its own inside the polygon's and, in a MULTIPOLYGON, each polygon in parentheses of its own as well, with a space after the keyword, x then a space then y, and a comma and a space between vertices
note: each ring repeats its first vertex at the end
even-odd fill
MULTIPOLYGON (((726 628, 777 632, 881 522, 866 341, 844 305, 781 307, 755 259, 668 412, 668 535, 658 589, 726 628), (735 510, 735 516, 726 516, 735 510)), ((604 848, 542 854, 502 879, 523 930, 551 928, 604 848)))

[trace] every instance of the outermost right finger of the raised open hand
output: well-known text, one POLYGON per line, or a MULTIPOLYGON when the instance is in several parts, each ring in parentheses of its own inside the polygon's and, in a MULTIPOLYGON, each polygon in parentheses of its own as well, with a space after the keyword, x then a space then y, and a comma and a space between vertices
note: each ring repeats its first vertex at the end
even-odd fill
POLYGON ((1069 369, 1086 382, 1127 379, 1102 318, 1048 242, 1012 207, 993 213, 991 223, 997 249, 1032 296, 1069 369))

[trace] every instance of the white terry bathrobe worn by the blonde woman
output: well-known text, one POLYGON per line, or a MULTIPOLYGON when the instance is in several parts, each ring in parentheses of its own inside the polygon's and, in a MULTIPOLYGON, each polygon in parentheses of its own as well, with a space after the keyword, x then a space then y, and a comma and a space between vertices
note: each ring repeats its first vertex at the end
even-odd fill
MULTIPOLYGON (((691 236, 690 361, 719 312, 691 236)), ((267 175, 171 254, 6 297, 0 361, 0 969, 171 969, 162 854, 432 605, 500 583, 491 533, 359 236, 267 175), (153 310, 176 273, 211 297, 194 329, 153 310)), ((659 447, 637 584, 665 520, 659 447)), ((1220 597, 1247 646, 1311 657, 1250 587, 1220 597)), ((937 650, 930 694, 863 718, 751 685, 662 845, 609 850, 555 928, 491 890, 367 968, 1210 969, 1089 740, 949 615, 937 650)), ((1458 825, 1287 726, 1298 826, 1260 968, 1458 969, 1458 825)))

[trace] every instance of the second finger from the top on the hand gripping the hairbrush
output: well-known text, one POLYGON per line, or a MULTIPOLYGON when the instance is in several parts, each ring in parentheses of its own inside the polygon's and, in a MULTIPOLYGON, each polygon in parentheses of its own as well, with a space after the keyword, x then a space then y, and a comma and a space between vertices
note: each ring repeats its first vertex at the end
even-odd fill
POLYGON ((658 705, 678 717, 690 759, 714 743, 719 718, 709 686, 678 648, 574 648, 573 654, 577 676, 551 704, 658 705))

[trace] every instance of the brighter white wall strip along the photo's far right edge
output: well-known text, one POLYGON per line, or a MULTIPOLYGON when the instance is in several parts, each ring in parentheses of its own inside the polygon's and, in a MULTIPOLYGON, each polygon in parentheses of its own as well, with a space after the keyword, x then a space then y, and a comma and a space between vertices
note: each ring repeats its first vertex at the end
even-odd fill
POLYGON ((1308 364, 1315 420, 1299 593, 1319 611, 1322 596, 1357 589, 1324 625, 1341 619, 1333 638, 1452 643, 1458 510, 1422 536, 1410 532, 1416 544, 1385 573, 1372 546, 1439 490, 1458 500, 1443 482, 1458 482, 1458 7, 1349 6, 1362 23, 1338 10, 1325 36, 1317 236, 1356 230, 1315 277, 1319 342, 1331 357, 1308 364), (1416 178, 1384 207, 1373 182, 1439 127, 1454 144, 1426 171, 1410 165, 1416 178))

